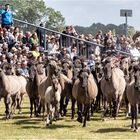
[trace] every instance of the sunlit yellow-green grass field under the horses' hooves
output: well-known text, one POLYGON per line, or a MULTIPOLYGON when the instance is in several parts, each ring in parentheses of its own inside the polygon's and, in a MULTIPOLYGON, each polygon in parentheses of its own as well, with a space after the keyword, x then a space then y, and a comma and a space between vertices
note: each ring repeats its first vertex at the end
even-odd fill
POLYGON ((4 103, 0 103, 0 139, 6 140, 46 140, 46 139, 140 139, 140 132, 135 133, 130 129, 131 120, 125 114, 119 114, 117 120, 101 120, 101 113, 95 113, 87 127, 68 116, 53 122, 52 126, 45 127, 41 118, 30 118, 29 101, 26 97, 23 103, 23 113, 17 114, 13 119, 6 121, 4 118, 4 103))

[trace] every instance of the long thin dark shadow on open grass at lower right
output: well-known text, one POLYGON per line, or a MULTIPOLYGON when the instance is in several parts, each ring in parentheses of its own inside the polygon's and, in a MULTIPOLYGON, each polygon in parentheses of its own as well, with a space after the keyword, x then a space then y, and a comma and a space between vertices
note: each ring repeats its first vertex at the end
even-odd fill
POLYGON ((91 131, 91 132, 96 132, 96 133, 111 133, 111 132, 127 132, 129 131, 126 128, 103 128, 103 129, 98 129, 97 131, 91 131))

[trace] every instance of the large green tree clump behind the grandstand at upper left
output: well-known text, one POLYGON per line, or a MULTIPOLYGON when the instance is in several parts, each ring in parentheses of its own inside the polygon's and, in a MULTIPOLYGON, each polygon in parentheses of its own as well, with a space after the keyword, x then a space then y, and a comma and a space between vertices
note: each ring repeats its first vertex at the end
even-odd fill
POLYGON ((4 5, 5 3, 11 5, 14 18, 16 19, 37 25, 40 22, 45 22, 47 23, 46 27, 59 31, 65 25, 65 18, 62 14, 53 8, 47 7, 44 0, 0 0, 0 4, 4 5))

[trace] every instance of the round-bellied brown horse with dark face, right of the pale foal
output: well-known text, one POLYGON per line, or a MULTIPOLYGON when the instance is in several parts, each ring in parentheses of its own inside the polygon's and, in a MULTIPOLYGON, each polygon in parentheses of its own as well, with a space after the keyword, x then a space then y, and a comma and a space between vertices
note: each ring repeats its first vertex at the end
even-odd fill
POLYGON ((78 105, 78 121, 82 122, 84 114, 83 127, 86 126, 86 120, 89 114, 89 108, 93 100, 96 99, 98 93, 97 85, 92 74, 87 69, 82 69, 79 72, 78 79, 75 81, 72 88, 72 95, 78 105), (84 111, 83 107, 84 106, 84 111))

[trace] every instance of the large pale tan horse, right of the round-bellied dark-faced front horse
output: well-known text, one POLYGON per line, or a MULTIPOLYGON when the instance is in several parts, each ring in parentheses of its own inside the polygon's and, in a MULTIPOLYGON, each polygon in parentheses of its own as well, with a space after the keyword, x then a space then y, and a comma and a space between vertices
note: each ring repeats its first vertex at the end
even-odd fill
POLYGON ((115 118, 118 115, 120 103, 126 87, 124 73, 114 66, 111 59, 105 62, 103 70, 104 77, 101 80, 101 90, 104 97, 104 116, 107 113, 107 103, 109 103, 110 115, 115 118))

